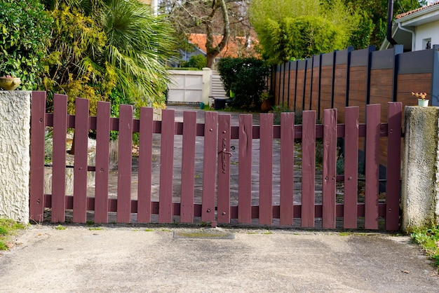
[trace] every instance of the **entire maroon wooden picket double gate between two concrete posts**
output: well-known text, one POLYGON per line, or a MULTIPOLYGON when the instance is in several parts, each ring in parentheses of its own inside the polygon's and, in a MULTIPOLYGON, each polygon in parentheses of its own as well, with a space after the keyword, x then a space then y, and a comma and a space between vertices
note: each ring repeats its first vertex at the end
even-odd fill
MULTIPOLYGON (((133 107, 120 106, 119 118, 110 118, 110 104, 97 103, 97 116, 89 116, 88 100, 76 99, 75 116, 67 115, 67 97, 55 95, 53 114, 45 112, 46 93, 32 94, 30 218, 43 221, 50 208, 51 222, 65 222, 66 210, 73 221, 86 222, 94 211, 95 223, 108 222, 116 212, 116 222, 129 223, 137 214, 138 223, 182 223, 196 219, 219 224, 278 224, 281 226, 335 229, 341 222, 346 229, 379 229, 385 219, 386 230, 398 230, 400 198, 400 103, 391 102, 388 122, 380 123, 379 104, 367 106, 367 125, 358 123, 358 107, 346 108, 346 123, 337 124, 337 110, 324 110, 323 125, 316 125, 316 111, 303 112, 303 125, 295 125, 294 113, 281 114, 281 124, 273 125, 273 114, 260 114, 260 125, 252 125, 252 115, 241 114, 239 125, 231 125, 229 114, 205 112, 205 122, 196 123, 196 112, 185 111, 183 122, 175 121, 175 111, 163 110, 162 121, 153 120, 153 109, 140 109, 133 119, 133 107), (43 192, 44 142, 46 127, 53 127, 52 194, 43 192), (74 194, 65 194, 66 133, 74 128, 74 194), (88 132, 96 130, 96 163, 87 163, 88 132), (117 198, 109 198, 109 131, 119 131, 119 169, 117 198), (140 133, 137 196, 131 196, 132 137, 140 133), (160 134, 160 186, 158 201, 151 199, 153 135, 160 134), (175 137, 182 136, 181 194, 173 199, 175 137), (194 200, 194 159, 196 137, 203 137, 203 184, 201 201, 194 200), (337 175, 337 138, 344 137, 344 175, 337 175), (358 201, 358 140, 366 140, 365 199, 358 201), (387 137, 387 181, 385 202, 379 199, 380 137, 387 137), (231 205, 231 141, 238 148, 238 200, 231 205), (259 141, 255 160, 252 142, 259 141), (316 139, 323 139, 322 192, 316 196, 316 139), (300 144, 299 141, 302 140, 300 144), (294 189, 295 144, 301 145, 302 188, 294 189), (274 147, 273 147, 274 146, 274 147), (278 149, 276 149, 276 146, 278 149), (273 154, 280 151, 280 179, 273 178, 273 154), (255 178, 255 161, 258 162, 255 178), (95 172, 95 194, 87 194, 87 172, 95 172), (252 190, 252 180, 259 190, 252 190), (336 181, 344 182, 344 196, 336 201, 336 181), (273 182, 279 182, 273 194, 273 182), (318 198, 319 197, 319 198, 318 198), (177 202, 176 202, 177 201, 177 202), (318 222, 318 219, 321 219, 318 222), (337 220, 337 221, 336 221, 337 220), (363 221, 364 220, 364 221, 363 221), (358 224, 364 223, 364 224, 358 224), (318 224, 317 226, 319 226, 318 224)), ((297 149, 296 149, 297 150, 297 149)), ((235 155, 234 155, 235 156, 235 155)), ((180 158, 178 158, 180 160, 180 158)), ((236 159, 236 158, 234 158, 236 159)))

